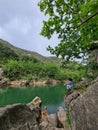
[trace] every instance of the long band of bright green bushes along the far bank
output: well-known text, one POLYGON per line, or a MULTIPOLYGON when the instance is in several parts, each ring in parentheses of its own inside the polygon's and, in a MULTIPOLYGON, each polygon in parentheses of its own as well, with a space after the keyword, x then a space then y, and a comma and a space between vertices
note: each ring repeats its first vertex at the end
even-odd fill
MULTIPOLYGON (((69 68, 62 68, 57 64, 34 63, 33 61, 8 60, 3 66, 5 77, 10 80, 16 79, 59 79, 65 80, 72 77, 74 81, 79 81, 85 77, 85 68, 78 63, 69 64, 69 68), (79 68, 80 66, 80 68, 79 68)), ((66 65, 67 66, 67 65, 66 65)))

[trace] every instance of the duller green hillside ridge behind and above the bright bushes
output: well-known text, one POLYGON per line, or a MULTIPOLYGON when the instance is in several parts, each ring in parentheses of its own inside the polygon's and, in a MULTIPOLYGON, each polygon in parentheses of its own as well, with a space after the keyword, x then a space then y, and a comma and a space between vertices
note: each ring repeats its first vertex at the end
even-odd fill
POLYGON ((11 45, 11 43, 0 39, 0 62, 6 61, 7 59, 30 59, 33 61, 47 63, 59 63, 60 59, 56 57, 44 57, 36 52, 24 50, 11 45))

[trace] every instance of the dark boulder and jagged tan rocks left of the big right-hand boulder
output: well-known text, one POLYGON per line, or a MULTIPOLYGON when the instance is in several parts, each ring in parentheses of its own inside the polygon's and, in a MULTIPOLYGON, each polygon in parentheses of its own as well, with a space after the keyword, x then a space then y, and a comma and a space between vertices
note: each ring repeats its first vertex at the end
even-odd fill
POLYGON ((35 97, 28 104, 13 104, 0 108, 0 130, 70 130, 66 129, 66 114, 62 107, 57 113, 41 111, 41 99, 35 97))

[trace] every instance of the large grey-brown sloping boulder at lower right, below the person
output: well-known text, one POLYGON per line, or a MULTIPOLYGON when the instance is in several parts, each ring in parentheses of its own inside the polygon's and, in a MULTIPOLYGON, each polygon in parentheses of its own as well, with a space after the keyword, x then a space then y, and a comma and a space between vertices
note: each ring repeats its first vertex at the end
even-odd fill
POLYGON ((67 97, 72 130, 98 130, 98 82, 83 95, 75 92, 67 97))

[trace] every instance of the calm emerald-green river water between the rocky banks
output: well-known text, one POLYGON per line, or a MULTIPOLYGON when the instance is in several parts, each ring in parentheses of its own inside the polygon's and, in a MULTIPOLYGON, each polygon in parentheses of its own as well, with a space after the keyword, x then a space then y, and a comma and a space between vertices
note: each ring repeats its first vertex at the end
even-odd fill
POLYGON ((59 106, 65 108, 63 85, 44 87, 23 87, 0 89, 0 107, 14 103, 28 103, 36 96, 40 97, 43 106, 47 106, 49 113, 55 113, 59 106))

